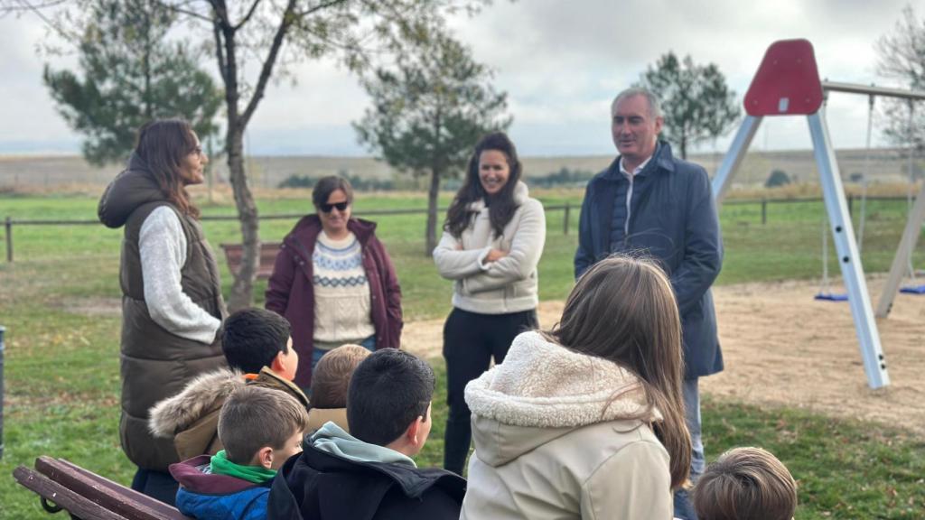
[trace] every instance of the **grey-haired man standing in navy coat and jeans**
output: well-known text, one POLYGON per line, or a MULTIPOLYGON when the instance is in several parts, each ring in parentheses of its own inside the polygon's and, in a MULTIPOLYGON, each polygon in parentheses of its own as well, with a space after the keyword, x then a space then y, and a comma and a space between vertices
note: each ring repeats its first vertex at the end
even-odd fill
MULTIPOLYGON (((704 470, 698 378, 722 370, 710 285, 722 266, 716 201, 703 167, 676 159, 658 139, 659 100, 632 88, 611 105, 611 133, 620 155, 587 184, 575 252, 577 279, 614 253, 647 254, 672 281, 684 332, 684 396, 694 453, 691 478, 704 470)), ((685 491, 675 495, 675 516, 696 518, 685 491)))

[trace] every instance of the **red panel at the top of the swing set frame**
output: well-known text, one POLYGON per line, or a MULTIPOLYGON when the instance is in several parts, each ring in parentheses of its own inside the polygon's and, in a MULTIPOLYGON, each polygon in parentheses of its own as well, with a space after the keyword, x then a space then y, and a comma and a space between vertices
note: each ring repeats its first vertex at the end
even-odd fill
POLYGON ((808 116, 822 105, 812 43, 782 40, 768 47, 745 97, 749 116, 808 116))

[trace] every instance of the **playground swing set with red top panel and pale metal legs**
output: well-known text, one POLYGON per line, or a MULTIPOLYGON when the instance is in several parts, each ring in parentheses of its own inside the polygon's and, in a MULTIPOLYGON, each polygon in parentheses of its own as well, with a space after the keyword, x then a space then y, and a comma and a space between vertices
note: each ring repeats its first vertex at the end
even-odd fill
MULTIPOLYGON (((925 100, 925 93, 911 93, 850 83, 822 82, 811 43, 807 40, 783 40, 772 43, 761 61, 755 78, 748 87, 744 103, 746 118, 742 121, 729 152, 723 158, 720 169, 713 178, 712 189, 717 204, 721 204, 735 170, 741 165, 748 145, 755 137, 763 118, 780 116, 805 116, 807 118, 813 142, 813 155, 819 169, 825 201, 827 215, 825 227, 829 228, 833 235, 868 385, 871 389, 878 389, 889 385, 890 378, 886 370, 886 358, 883 355, 877 323, 870 305, 870 295, 864 280, 864 269, 861 266, 855 232, 848 213, 842 178, 826 123, 824 101, 826 93, 830 92, 867 94, 870 98, 871 111, 874 96, 900 97, 910 100, 910 103, 912 100, 925 100)), ((868 117, 867 163, 870 162, 871 113, 868 117)), ((866 200, 862 200, 862 206, 864 204, 866 200)), ((862 207, 861 226, 863 226, 865 209, 862 207)), ((909 212, 906 232, 903 234, 903 240, 900 241, 899 250, 894 258, 894 268, 890 271, 890 279, 883 291, 881 307, 885 304, 887 313, 899 289, 904 270, 907 268, 909 254, 915 247, 915 242, 918 241, 919 229, 923 222, 925 222, 925 186, 922 192, 919 192, 919 197, 909 212), (884 303, 886 300, 888 303, 884 303)), ((823 269, 826 275, 827 256, 828 233, 823 228, 823 260, 826 266, 823 269)))

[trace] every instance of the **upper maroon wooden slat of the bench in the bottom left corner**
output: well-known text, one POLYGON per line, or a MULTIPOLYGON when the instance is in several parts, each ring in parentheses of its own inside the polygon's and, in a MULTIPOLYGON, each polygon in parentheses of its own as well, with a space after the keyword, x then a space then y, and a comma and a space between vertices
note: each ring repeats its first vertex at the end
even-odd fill
POLYGON ((170 505, 134 489, 100 477, 76 464, 52 457, 35 460, 35 469, 62 486, 89 497, 106 509, 132 520, 181 520, 187 518, 170 505))

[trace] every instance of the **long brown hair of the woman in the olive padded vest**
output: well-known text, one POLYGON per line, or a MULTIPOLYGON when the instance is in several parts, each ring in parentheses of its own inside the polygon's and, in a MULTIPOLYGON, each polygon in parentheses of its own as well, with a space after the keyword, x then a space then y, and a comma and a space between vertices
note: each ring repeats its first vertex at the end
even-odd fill
POLYGON ((135 145, 135 155, 148 166, 167 200, 180 213, 199 218, 199 208, 192 204, 180 176, 183 158, 195 150, 195 134, 190 123, 182 119, 158 119, 144 125, 135 145))

